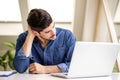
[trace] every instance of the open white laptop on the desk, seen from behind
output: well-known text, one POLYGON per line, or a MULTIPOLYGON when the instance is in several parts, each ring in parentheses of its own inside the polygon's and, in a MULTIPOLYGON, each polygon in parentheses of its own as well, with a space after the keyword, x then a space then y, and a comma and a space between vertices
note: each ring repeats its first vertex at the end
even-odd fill
POLYGON ((119 51, 119 43, 77 41, 68 73, 51 75, 62 78, 110 76, 119 51))

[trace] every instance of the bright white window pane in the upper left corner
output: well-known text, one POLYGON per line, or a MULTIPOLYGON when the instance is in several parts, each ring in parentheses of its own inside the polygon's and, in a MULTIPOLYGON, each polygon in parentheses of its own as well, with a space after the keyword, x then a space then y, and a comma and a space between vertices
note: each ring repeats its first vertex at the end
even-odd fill
POLYGON ((0 0, 0 21, 21 21, 18 0, 0 0))

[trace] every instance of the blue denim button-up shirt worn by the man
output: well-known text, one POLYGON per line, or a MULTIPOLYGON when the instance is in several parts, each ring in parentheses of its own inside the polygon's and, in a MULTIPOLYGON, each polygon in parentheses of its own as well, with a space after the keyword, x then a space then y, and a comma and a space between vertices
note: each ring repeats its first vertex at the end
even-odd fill
POLYGON ((68 72, 76 41, 71 31, 56 28, 57 38, 51 40, 46 48, 43 48, 40 42, 35 38, 29 57, 26 57, 22 50, 27 34, 27 31, 20 34, 16 43, 16 54, 13 64, 19 73, 25 72, 33 62, 42 65, 57 65, 61 72, 68 72))

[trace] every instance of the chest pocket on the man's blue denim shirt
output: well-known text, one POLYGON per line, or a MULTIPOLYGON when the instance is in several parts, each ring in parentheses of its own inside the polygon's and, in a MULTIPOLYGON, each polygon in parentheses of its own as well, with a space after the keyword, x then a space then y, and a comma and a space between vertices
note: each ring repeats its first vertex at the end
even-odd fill
POLYGON ((53 63, 54 64, 59 64, 63 63, 65 59, 65 54, 66 54, 66 48, 65 47, 56 47, 54 49, 54 54, 53 54, 53 63))

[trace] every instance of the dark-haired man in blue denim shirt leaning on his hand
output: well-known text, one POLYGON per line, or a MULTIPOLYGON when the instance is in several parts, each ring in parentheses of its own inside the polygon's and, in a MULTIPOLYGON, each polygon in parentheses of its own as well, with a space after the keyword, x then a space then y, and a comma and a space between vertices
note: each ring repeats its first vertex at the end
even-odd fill
POLYGON ((14 67, 19 73, 47 74, 67 72, 75 37, 71 31, 55 28, 50 14, 32 9, 27 18, 28 31, 20 34, 16 43, 14 67))

